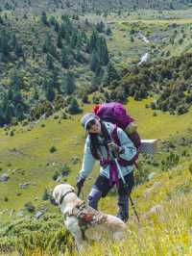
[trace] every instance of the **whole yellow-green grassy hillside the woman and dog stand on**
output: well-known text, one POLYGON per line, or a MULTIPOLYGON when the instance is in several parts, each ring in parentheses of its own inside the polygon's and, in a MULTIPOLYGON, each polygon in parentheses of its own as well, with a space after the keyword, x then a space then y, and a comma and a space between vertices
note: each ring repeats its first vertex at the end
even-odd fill
MULTIPOLYGON (((110 242, 108 246, 100 244, 99 248, 96 243, 89 253, 91 256, 119 255, 119 250, 124 255, 166 255, 170 251, 179 255, 184 251, 185 255, 190 255, 192 138, 189 120, 192 114, 178 117, 159 112, 154 116, 152 110, 145 108, 146 103, 137 104, 132 100, 126 106, 132 116, 136 116, 142 138, 160 140, 155 158, 141 156, 139 170, 135 171, 138 185, 132 198, 141 226, 131 209, 126 241, 120 246, 110 242)), ((90 106, 86 106, 84 112, 89 109, 90 106)), ((1 130, 0 173, 9 175, 9 180, 0 184, 0 250, 4 255, 15 248, 24 255, 41 255, 41 250, 45 255, 58 255, 60 250, 66 255, 76 255, 71 237, 62 225, 59 209, 45 199, 44 192, 60 183, 54 181, 53 176, 66 171, 66 166, 69 173, 62 176, 61 181, 75 185, 84 147, 80 117, 77 115, 69 120, 49 117, 30 126, 15 126, 12 137, 6 136, 11 130, 1 130), (52 146, 56 148, 54 153, 50 152, 52 146), (21 188, 21 184, 28 185, 21 188), (32 206, 34 210, 30 210, 32 206), (43 215, 36 219, 38 211, 43 215)), ((97 168, 84 185, 84 194, 81 194, 84 199, 97 175, 97 168)), ((113 192, 102 199, 100 209, 115 214, 113 192)))

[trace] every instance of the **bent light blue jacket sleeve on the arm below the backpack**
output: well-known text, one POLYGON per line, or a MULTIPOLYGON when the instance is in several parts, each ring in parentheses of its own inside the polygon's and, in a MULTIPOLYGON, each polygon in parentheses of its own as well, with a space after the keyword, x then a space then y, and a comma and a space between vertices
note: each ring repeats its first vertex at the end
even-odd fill
POLYGON ((136 147, 121 128, 117 128, 117 136, 119 138, 121 148, 123 149, 123 153, 120 154, 120 157, 124 160, 131 161, 136 155, 136 147))

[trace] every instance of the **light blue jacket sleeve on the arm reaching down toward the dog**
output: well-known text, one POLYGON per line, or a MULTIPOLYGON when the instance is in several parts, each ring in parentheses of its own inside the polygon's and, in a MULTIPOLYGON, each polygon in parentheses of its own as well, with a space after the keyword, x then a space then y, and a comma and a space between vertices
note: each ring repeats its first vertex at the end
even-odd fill
POLYGON ((96 160, 92 156, 90 151, 90 140, 89 140, 89 137, 87 137, 84 144, 84 160, 82 164, 82 169, 80 170, 80 174, 79 174, 80 178, 85 179, 91 173, 94 167, 95 161, 96 160))

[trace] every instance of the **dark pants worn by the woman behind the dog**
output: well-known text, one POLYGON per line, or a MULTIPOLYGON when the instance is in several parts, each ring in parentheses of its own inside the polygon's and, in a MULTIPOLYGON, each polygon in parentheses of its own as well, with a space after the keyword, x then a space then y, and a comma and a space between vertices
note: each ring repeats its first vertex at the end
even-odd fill
MULTIPOLYGON (((127 221, 129 218, 129 194, 132 192, 132 187, 134 185, 133 171, 126 176, 124 176, 126 185, 123 184, 122 179, 119 179, 118 188, 118 207, 119 211, 117 214, 118 218, 123 221, 127 221)), ((88 195, 88 205, 97 210, 98 202, 101 197, 105 197, 110 189, 114 186, 109 185, 108 178, 105 176, 99 176, 92 187, 91 192, 88 195)))

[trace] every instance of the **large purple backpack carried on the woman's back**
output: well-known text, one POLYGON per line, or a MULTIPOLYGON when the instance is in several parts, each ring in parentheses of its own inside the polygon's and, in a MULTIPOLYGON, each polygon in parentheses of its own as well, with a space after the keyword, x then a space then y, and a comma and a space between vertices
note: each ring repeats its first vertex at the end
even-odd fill
MULTIPOLYGON (((102 120, 116 124, 126 132, 126 128, 134 121, 134 119, 128 115, 123 105, 118 102, 103 103, 93 107, 95 115, 98 115, 102 120)), ((138 133, 135 131, 132 134, 126 132, 130 140, 133 142, 137 151, 141 145, 141 140, 138 133)))

